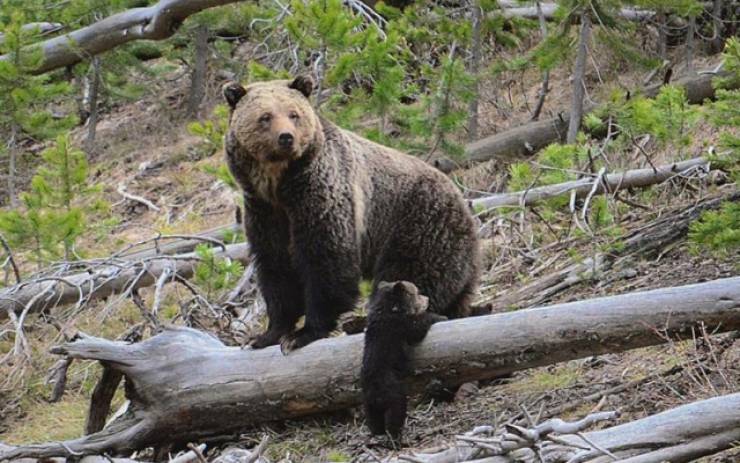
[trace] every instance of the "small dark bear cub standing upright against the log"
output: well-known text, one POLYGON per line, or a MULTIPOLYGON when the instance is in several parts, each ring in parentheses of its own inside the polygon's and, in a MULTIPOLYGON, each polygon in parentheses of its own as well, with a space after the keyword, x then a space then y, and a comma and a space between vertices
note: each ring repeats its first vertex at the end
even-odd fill
POLYGON ((406 420, 409 348, 420 343, 432 324, 447 318, 427 312, 428 299, 413 283, 380 282, 368 304, 362 358, 365 414, 373 434, 401 437, 406 420))

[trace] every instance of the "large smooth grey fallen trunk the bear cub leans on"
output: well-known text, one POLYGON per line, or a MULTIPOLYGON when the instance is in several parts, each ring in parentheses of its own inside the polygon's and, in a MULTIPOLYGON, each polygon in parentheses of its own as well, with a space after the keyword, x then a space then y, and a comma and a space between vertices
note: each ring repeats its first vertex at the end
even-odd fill
MULTIPOLYGON (((412 391, 525 368, 740 328, 740 277, 439 323, 415 349, 412 391)), ((123 452, 185 443, 287 418, 357 405, 362 335, 280 349, 225 347, 208 334, 170 328, 127 344, 81 336, 52 351, 99 360, 126 377, 128 411, 79 439, 21 446, 0 460, 123 452)), ((109 404, 104 404, 106 407, 109 404)))

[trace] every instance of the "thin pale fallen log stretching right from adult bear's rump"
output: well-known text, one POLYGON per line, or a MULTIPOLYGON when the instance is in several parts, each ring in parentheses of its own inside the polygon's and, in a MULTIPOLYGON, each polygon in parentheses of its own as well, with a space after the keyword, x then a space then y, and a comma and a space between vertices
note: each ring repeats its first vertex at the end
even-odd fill
POLYGON ((686 161, 675 162, 655 169, 634 169, 621 173, 607 174, 594 188, 594 178, 581 178, 556 185, 546 185, 531 188, 526 191, 515 193, 498 193, 491 196, 476 198, 470 201, 473 210, 480 211, 504 206, 530 206, 540 201, 555 198, 571 191, 575 191, 576 197, 581 198, 593 191, 593 194, 616 193, 627 188, 643 188, 656 183, 665 182, 668 179, 680 176, 688 171, 704 166, 709 169, 709 163, 704 158, 694 158, 686 161))

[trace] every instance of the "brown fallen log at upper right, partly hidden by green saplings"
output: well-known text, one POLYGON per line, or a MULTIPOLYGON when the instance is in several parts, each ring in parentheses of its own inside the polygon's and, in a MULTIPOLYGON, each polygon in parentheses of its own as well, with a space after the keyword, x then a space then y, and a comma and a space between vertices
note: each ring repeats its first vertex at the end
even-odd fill
MULTIPOLYGON (((690 104, 700 104, 704 100, 714 99, 712 74, 684 77, 673 82, 684 88, 686 98, 690 104)), ((655 97, 663 84, 651 85, 641 93, 647 97, 655 97)), ((593 111, 596 106, 587 105, 584 114, 593 111)), ((546 147, 551 143, 565 140, 568 128, 568 112, 558 116, 515 127, 470 143, 465 148, 465 156, 469 162, 483 162, 490 159, 521 160, 546 147)))

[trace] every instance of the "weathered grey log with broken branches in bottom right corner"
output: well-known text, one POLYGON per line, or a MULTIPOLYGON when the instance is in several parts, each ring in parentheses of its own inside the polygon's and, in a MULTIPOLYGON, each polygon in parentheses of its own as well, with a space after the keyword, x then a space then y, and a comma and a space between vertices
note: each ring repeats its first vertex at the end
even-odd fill
MULTIPOLYGON (((579 423, 556 420, 532 429, 497 430, 490 438, 479 434, 460 436, 462 442, 453 448, 431 454, 417 453, 412 458, 422 463, 694 461, 732 448, 740 439, 740 393, 682 405, 598 431, 576 434, 567 430, 578 428, 579 423), (516 433, 519 439, 511 440, 504 435, 507 432, 516 433), (549 434, 556 434, 557 438, 549 439, 549 434), (534 447, 539 449, 539 456, 533 451, 534 447), (513 450, 507 451, 507 448, 513 450)), ((393 463, 401 461, 408 459, 392 460, 393 463)))

